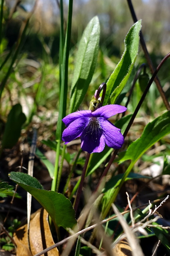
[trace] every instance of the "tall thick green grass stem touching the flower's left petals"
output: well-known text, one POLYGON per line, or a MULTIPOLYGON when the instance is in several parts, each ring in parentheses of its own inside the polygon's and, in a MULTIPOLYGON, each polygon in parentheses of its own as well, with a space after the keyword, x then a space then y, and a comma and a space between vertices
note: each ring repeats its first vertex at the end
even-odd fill
MULTIPOLYGON (((68 57, 70 50, 70 38, 71 38, 71 24, 72 24, 72 3, 73 0, 69 1, 68 6, 68 22, 66 30, 66 39, 64 46, 63 54, 63 64, 61 66, 61 90, 60 90, 60 102, 59 102, 59 119, 57 122, 56 130, 56 141, 57 141, 57 150, 56 150, 56 161, 55 161, 55 170, 54 170, 54 179, 52 182, 51 190, 56 190, 57 183, 60 183, 60 177, 58 175, 59 167, 59 156, 60 156, 60 144, 61 144, 61 134, 64 130, 64 124, 62 119, 66 116, 66 101, 67 101, 67 91, 68 91, 68 57)), ((61 162, 63 165, 63 162, 61 162)))

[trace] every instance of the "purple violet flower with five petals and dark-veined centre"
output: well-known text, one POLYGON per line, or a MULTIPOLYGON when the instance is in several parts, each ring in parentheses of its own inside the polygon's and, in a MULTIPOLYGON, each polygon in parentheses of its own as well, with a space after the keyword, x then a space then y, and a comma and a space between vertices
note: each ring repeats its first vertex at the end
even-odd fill
POLYGON ((126 111, 120 105, 106 105, 92 110, 81 110, 63 118, 66 129, 62 140, 67 144, 80 136, 81 148, 88 153, 102 152, 107 146, 121 148, 124 143, 123 135, 107 118, 126 111))

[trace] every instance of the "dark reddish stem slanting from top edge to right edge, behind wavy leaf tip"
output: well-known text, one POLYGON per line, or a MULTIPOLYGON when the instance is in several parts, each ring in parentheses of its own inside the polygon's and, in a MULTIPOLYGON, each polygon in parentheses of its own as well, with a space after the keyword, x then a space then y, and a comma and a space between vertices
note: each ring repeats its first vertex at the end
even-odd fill
MULTIPOLYGON (((135 14, 135 10, 134 10, 134 8, 133 8, 133 4, 132 4, 131 0, 127 0, 127 3, 128 3, 128 6, 129 6, 129 9, 130 9, 130 12, 131 12, 131 16, 132 16, 132 18, 133 18, 133 21, 134 21, 134 22, 137 22, 138 19, 137 19, 137 16, 136 16, 136 14, 135 14)), ((145 40, 144 40, 144 38, 143 38, 142 32, 140 32, 140 42, 141 42, 141 46, 142 46, 142 48, 143 48, 143 52, 144 52, 144 54, 145 54, 145 58, 147 59, 147 62, 148 62, 150 71, 151 71, 152 74, 154 74, 154 70, 155 70, 155 69, 154 69, 154 66, 153 66, 153 64, 152 64, 152 60, 151 60, 151 58, 150 58, 149 52, 148 52, 148 50, 147 50, 147 46, 146 46, 146 44, 145 44, 145 40)), ((154 81, 155 81, 155 83, 156 83, 156 86, 157 86, 157 88, 158 88, 158 91, 159 91, 159 93, 160 93, 160 96, 162 97, 162 100, 163 100, 163 102, 164 102, 164 105, 166 106, 166 109, 167 109, 167 110, 170 110, 170 104, 169 104, 168 100, 166 99, 164 90, 162 89, 162 86, 161 86, 160 81, 159 81, 159 79, 158 79, 157 76, 155 76, 154 81)))

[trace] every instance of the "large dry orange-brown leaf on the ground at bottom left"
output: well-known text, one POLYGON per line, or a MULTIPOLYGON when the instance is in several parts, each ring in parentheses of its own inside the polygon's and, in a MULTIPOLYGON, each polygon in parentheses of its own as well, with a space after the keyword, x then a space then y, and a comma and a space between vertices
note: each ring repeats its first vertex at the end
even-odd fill
MULTIPOLYGON (((31 221, 29 226, 29 239, 32 254, 37 254, 42 250, 54 244, 51 230, 49 228, 48 213, 41 208, 34 214, 31 214, 31 221)), ((27 224, 21 226, 14 233, 14 241, 17 244, 16 256, 31 256, 28 248, 27 238, 27 224)), ((44 256, 44 254, 42 254, 44 256)), ((48 256, 59 256, 57 248, 47 252, 48 256)))

